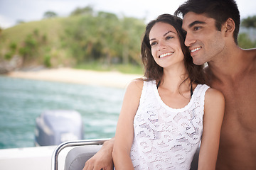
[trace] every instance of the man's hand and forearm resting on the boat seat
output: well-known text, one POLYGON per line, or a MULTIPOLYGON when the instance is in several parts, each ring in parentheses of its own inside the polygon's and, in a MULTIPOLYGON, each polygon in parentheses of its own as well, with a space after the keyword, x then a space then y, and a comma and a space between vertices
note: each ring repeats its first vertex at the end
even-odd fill
POLYGON ((104 142, 99 152, 85 162, 85 167, 82 170, 112 170, 114 167, 112 159, 113 146, 114 137, 104 142))

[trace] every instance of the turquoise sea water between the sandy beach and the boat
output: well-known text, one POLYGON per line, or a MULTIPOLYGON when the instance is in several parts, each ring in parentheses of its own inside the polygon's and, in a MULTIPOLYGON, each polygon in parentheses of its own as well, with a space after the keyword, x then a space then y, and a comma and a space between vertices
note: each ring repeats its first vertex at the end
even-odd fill
POLYGON ((85 139, 113 137, 124 89, 0 76, 0 149, 34 146, 36 118, 43 111, 75 110, 85 139))

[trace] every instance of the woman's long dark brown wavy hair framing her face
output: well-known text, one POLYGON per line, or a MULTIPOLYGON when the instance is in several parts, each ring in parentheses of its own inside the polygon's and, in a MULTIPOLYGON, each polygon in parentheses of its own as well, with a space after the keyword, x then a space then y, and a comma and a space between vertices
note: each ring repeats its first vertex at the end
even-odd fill
MULTIPOLYGON (((149 33, 151 28, 156 23, 168 23, 171 26, 174 26, 178 33, 179 42, 181 43, 181 50, 184 55, 184 63, 186 70, 188 71, 188 77, 186 79, 190 79, 191 82, 195 84, 205 84, 205 76, 203 72, 203 65, 193 64, 193 59, 188 51, 188 47, 184 44, 185 35, 183 34, 183 30, 181 29, 182 20, 177 16, 172 16, 170 14, 162 14, 156 20, 150 21, 146 26, 146 31, 144 34, 144 38, 142 40, 142 63, 144 64, 144 77, 146 80, 156 80, 161 81, 161 77, 163 76, 164 69, 156 64, 154 61, 154 57, 151 55, 151 45, 149 43, 149 33)), ((184 81, 186 81, 186 79, 184 81)), ((183 81, 183 82, 184 82, 183 81)))

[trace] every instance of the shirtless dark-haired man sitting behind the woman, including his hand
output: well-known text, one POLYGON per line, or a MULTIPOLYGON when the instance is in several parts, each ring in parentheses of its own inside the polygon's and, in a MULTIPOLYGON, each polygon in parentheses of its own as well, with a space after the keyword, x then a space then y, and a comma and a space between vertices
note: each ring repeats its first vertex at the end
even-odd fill
MULTIPOLYGON (((208 62, 209 85, 225 96, 216 169, 256 169, 256 49, 238 46, 238 6, 233 0, 188 0, 176 13, 183 15, 193 62, 208 62)), ((112 146, 113 140, 106 142, 84 169, 112 169, 112 146)))

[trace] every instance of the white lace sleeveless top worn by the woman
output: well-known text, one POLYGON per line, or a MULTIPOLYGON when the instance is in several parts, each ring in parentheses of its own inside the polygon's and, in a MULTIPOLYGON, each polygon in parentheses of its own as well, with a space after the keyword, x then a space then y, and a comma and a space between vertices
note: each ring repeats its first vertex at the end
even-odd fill
POLYGON ((184 108, 170 108, 161 100, 155 81, 144 81, 134 117, 130 157, 134 169, 190 169, 203 132, 207 85, 199 84, 184 108))

